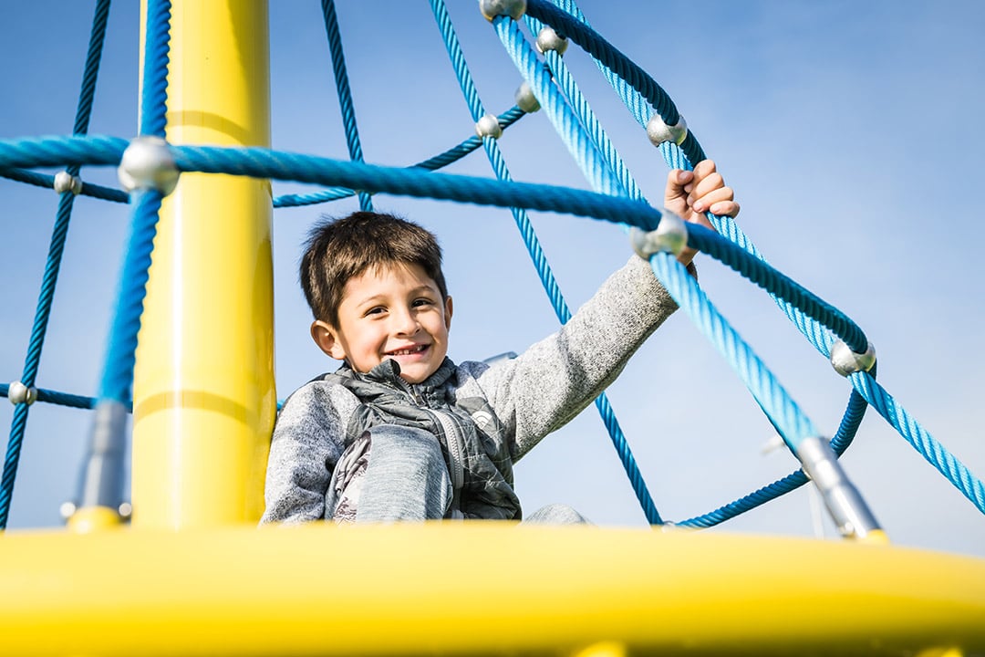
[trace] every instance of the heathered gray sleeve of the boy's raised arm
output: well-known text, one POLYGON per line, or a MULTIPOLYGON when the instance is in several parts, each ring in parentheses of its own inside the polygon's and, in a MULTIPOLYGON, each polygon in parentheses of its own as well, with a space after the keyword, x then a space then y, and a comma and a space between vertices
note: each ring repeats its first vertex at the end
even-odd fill
POLYGON ((514 460, 584 410, 676 309, 633 255, 557 333, 482 372, 477 382, 514 436, 514 460))

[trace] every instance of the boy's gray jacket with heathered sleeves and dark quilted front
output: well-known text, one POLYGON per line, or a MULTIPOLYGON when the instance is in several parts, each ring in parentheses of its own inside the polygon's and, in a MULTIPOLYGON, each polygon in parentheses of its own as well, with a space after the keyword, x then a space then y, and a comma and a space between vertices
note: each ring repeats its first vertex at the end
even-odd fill
POLYGON ((512 464, 584 410, 676 309, 649 264, 632 256, 557 333, 515 359, 446 359, 414 385, 393 361, 363 374, 343 365, 308 382, 274 427, 261 523, 325 518, 343 453, 366 428, 393 422, 435 433, 466 518, 518 519, 512 464))

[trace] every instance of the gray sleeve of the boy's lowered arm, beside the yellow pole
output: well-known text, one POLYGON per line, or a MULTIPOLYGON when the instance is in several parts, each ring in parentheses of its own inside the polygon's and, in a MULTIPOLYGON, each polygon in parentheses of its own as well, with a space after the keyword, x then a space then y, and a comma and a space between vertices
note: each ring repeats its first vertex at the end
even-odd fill
POLYGON ((312 381, 296 390, 274 426, 260 524, 300 523, 325 515, 325 493, 345 442, 347 390, 312 381))

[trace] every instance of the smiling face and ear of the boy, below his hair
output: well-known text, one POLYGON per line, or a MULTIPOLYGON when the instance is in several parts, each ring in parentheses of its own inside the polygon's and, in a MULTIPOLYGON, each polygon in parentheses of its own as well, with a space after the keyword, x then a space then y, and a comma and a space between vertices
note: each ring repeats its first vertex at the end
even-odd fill
POLYGON ((451 297, 418 265, 395 264, 351 279, 339 304, 339 325, 311 324, 311 337, 333 359, 367 372, 386 359, 400 376, 420 383, 448 353, 451 297))

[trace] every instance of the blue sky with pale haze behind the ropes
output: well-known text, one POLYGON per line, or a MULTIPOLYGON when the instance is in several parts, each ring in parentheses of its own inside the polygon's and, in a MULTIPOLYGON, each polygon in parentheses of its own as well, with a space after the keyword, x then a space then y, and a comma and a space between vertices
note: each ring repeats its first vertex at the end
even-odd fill
MULTIPOLYGON (((519 74, 476 3, 449 4, 484 103, 506 109, 519 74)), ((345 159, 318 3, 271 5, 273 147, 345 159)), ((985 228, 976 190, 985 5, 586 0, 581 8, 675 100, 737 190, 739 223, 767 259, 862 326, 889 393, 983 476, 977 261, 985 228)), ((71 131, 92 11, 84 2, 0 6, 0 138, 71 131)), ((472 134, 426 2, 340 2, 338 15, 367 162, 413 164, 472 134)), ((136 132, 138 28, 137 3, 116 3, 92 133, 136 132)), ((659 153, 582 53, 572 47, 565 59, 644 193, 659 199, 666 175, 659 153)), ((515 179, 587 188, 542 114, 510 128, 500 146, 515 179)), ((448 170, 492 175, 482 152, 448 170)), ((83 175, 118 186, 108 169, 83 175)), ((275 186, 275 194, 290 191, 311 188, 275 186)), ((56 202, 51 191, 0 179, 4 381, 24 366, 56 202)), ((455 297, 451 358, 519 352, 555 330, 507 211, 394 196, 375 205, 439 236, 455 297)), ((321 213, 355 207, 275 213, 281 398, 335 367, 307 336, 299 243, 321 213)), ((124 207, 77 200, 40 386, 95 394, 127 219, 124 207)), ((572 307, 629 257, 624 233, 612 226, 550 213, 533 221, 572 307)), ((815 423, 833 432, 847 383, 761 291, 707 257, 698 266, 716 305, 815 423)), ((771 428, 683 314, 633 358, 610 398, 665 518, 703 513, 795 469, 784 451, 762 453, 771 428)), ((5 435, 12 409, 0 405, 5 435)), ((86 412, 33 407, 12 528, 60 522, 89 422, 86 412)), ((874 412, 843 463, 894 542, 985 556, 985 517, 874 412)), ((516 476, 527 509, 563 501, 600 524, 644 524, 594 408, 548 437, 516 476)), ((802 490, 713 531, 811 536, 811 509, 802 490)), ((833 536, 826 519, 822 526, 833 536)))

